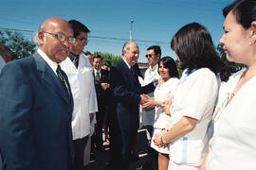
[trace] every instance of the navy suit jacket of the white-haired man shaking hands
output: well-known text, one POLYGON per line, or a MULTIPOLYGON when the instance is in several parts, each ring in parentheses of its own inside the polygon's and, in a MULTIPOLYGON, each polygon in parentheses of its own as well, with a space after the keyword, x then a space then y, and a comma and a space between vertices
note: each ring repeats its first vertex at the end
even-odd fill
POLYGON ((155 90, 153 83, 141 87, 137 73, 134 74, 123 59, 120 59, 110 71, 110 87, 113 94, 110 121, 113 126, 118 126, 120 131, 129 132, 131 127, 138 127, 140 94, 155 90))

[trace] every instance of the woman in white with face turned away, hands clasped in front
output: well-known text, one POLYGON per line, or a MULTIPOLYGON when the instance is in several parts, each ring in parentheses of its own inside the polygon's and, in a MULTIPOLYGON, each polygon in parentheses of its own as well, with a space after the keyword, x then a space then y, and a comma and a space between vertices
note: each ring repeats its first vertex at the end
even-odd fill
POLYGON ((197 23, 181 27, 171 47, 185 70, 174 93, 170 128, 156 134, 154 142, 169 144, 169 169, 198 170, 208 151, 207 128, 218 93, 220 59, 210 33, 197 23))

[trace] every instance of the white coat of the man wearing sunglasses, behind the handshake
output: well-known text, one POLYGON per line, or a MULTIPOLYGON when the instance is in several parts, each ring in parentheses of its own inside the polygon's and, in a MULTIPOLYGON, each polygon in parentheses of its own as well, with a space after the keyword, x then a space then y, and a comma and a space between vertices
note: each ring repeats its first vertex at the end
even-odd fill
MULTIPOLYGON (((153 68, 149 66, 149 68, 145 72, 144 81, 143 81, 144 86, 154 82, 159 77, 160 76, 158 74, 158 64, 155 64, 153 68)), ((147 93, 147 95, 149 95, 150 97, 153 97, 154 93, 147 93)), ((150 110, 142 109, 139 115, 140 115, 139 120, 140 120, 141 126, 154 125, 155 108, 150 110)))

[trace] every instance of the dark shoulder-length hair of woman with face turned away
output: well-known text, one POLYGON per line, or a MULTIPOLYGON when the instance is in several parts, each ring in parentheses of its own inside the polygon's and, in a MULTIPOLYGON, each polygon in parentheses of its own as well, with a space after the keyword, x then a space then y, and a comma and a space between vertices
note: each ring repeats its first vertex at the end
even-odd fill
POLYGON ((181 61, 181 69, 209 68, 217 73, 220 58, 205 26, 192 23, 181 27, 171 42, 171 48, 181 61))

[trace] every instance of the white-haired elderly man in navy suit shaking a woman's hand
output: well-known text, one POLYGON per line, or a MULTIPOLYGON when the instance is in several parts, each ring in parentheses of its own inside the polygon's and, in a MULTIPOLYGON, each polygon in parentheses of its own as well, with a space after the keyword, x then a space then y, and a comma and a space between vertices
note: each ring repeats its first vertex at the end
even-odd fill
POLYGON ((135 42, 125 42, 122 59, 110 71, 112 106, 110 115, 111 161, 110 169, 128 169, 129 161, 137 141, 138 106, 147 101, 142 93, 155 89, 153 83, 141 87, 133 66, 138 59, 138 46, 135 42))

